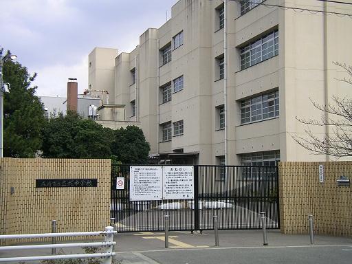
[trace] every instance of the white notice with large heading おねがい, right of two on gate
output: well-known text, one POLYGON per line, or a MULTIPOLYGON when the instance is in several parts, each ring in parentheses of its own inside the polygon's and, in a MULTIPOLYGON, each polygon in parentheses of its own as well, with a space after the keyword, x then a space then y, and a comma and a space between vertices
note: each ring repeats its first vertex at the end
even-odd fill
POLYGON ((193 166, 164 166, 162 198, 193 199, 193 166))

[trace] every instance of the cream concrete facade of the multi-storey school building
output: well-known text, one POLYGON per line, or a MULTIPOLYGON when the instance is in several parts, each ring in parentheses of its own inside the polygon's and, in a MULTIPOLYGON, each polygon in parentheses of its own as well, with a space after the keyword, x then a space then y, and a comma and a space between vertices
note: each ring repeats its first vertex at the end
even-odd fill
POLYGON ((346 73, 333 63, 352 61, 352 19, 324 12, 352 8, 316 0, 180 0, 135 50, 106 59, 115 61, 113 78, 104 80, 114 83, 110 103, 125 105, 126 121, 140 122, 160 163, 329 161, 292 137, 307 127, 296 117, 320 120, 311 100, 352 96, 338 80, 346 73))

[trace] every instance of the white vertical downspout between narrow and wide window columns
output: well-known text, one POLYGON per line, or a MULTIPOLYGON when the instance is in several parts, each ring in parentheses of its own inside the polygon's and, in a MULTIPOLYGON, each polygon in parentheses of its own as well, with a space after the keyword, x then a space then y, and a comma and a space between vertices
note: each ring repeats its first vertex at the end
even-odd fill
POLYGON ((224 129, 224 155, 225 155, 225 166, 228 165, 228 111, 227 111, 227 85, 228 85, 228 65, 227 65, 227 47, 226 47, 226 30, 227 30, 227 1, 223 1, 223 112, 225 115, 225 129, 224 129))

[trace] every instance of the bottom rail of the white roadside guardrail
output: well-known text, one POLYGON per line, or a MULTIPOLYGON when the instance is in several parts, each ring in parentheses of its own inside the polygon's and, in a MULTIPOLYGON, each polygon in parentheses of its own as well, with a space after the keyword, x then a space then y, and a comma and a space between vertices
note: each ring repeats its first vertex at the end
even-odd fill
POLYGON ((115 256, 115 252, 110 253, 94 253, 94 254, 69 254, 69 255, 50 255, 50 256, 18 256, 14 258, 0 258, 0 262, 6 261, 44 261, 51 259, 85 259, 85 258, 106 258, 115 256))

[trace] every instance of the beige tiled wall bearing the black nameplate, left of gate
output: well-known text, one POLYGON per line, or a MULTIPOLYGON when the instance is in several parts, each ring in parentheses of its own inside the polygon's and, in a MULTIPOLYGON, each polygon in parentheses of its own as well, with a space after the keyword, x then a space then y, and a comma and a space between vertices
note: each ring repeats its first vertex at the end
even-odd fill
POLYGON ((110 217, 110 159, 0 159, 0 232, 104 230, 110 217), (98 187, 35 188, 36 179, 98 179, 98 187), (11 189, 14 191, 11 193, 11 189))

